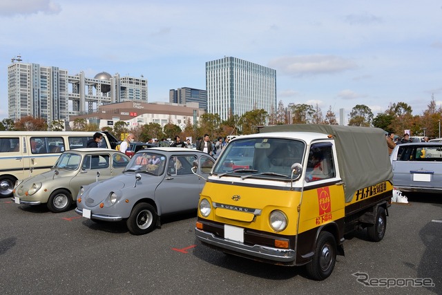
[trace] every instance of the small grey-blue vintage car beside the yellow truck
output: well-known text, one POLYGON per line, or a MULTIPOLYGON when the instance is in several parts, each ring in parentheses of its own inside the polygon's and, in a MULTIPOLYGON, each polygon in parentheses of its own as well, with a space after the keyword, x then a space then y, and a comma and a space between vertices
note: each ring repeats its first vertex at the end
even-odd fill
POLYGON ((138 151, 122 175, 83 186, 75 211, 92 220, 126 220, 131 234, 147 234, 162 216, 197 208, 214 162, 211 155, 193 149, 138 151))

